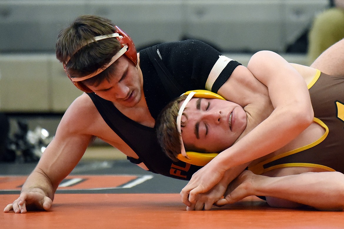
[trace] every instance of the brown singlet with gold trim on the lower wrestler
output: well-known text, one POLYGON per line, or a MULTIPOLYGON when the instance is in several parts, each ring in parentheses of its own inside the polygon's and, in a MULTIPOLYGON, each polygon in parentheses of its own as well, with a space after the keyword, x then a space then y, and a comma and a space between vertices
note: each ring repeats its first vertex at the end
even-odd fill
POLYGON ((262 174, 283 167, 318 167, 344 173, 344 76, 319 70, 308 85, 314 122, 325 129, 317 141, 258 163, 248 169, 262 174))

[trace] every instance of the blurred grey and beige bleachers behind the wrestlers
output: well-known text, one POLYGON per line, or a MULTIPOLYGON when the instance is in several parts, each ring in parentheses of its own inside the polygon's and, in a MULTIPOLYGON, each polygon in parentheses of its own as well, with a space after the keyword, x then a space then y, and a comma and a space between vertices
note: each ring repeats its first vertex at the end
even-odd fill
POLYGON ((82 93, 54 51, 58 32, 79 15, 109 18, 138 51, 198 39, 243 65, 259 50, 308 65, 308 31, 328 7, 328 0, 1 0, 0 112, 10 120, 10 136, 19 134, 18 121, 33 132, 39 127, 55 134, 82 93))

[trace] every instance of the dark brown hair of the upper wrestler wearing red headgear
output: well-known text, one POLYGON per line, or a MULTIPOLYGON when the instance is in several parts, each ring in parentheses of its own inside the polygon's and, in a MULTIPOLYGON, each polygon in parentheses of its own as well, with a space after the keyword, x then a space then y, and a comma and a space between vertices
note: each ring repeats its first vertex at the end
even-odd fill
MULTIPOLYGON (((80 16, 58 34, 56 58, 66 64, 66 71, 72 77, 92 74, 109 63, 112 56, 120 50, 121 45, 115 37, 92 42, 84 47, 82 45, 95 36, 114 32, 114 24, 108 19, 95 15, 80 16)), ((109 73, 115 70, 115 66, 116 64, 112 64, 97 77, 83 82, 99 84, 104 78, 109 79, 109 73)))

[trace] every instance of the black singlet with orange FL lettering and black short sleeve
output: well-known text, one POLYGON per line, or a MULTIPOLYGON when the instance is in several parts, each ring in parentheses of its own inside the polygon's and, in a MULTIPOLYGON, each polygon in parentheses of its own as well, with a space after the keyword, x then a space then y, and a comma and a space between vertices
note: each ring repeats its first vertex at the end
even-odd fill
MULTIPOLYGON (((181 92, 204 89, 207 77, 217 61, 218 51, 195 40, 163 43, 140 51, 140 68, 143 74, 143 90, 149 111, 154 119, 169 101, 181 92), (148 52, 153 51, 156 61, 163 65, 165 74, 154 66, 148 52), (166 88, 164 77, 172 77, 175 88, 166 88), (164 81, 164 83, 162 83, 164 81)), ((233 70, 240 65, 231 61, 213 85, 213 91, 225 83, 233 70)), ((178 179, 190 180, 200 169, 199 166, 184 162, 173 162, 161 150, 155 129, 143 126, 124 116, 116 107, 94 93, 88 93, 100 115, 108 126, 139 156, 139 160, 129 158, 133 163, 143 162, 149 171, 178 179)))

